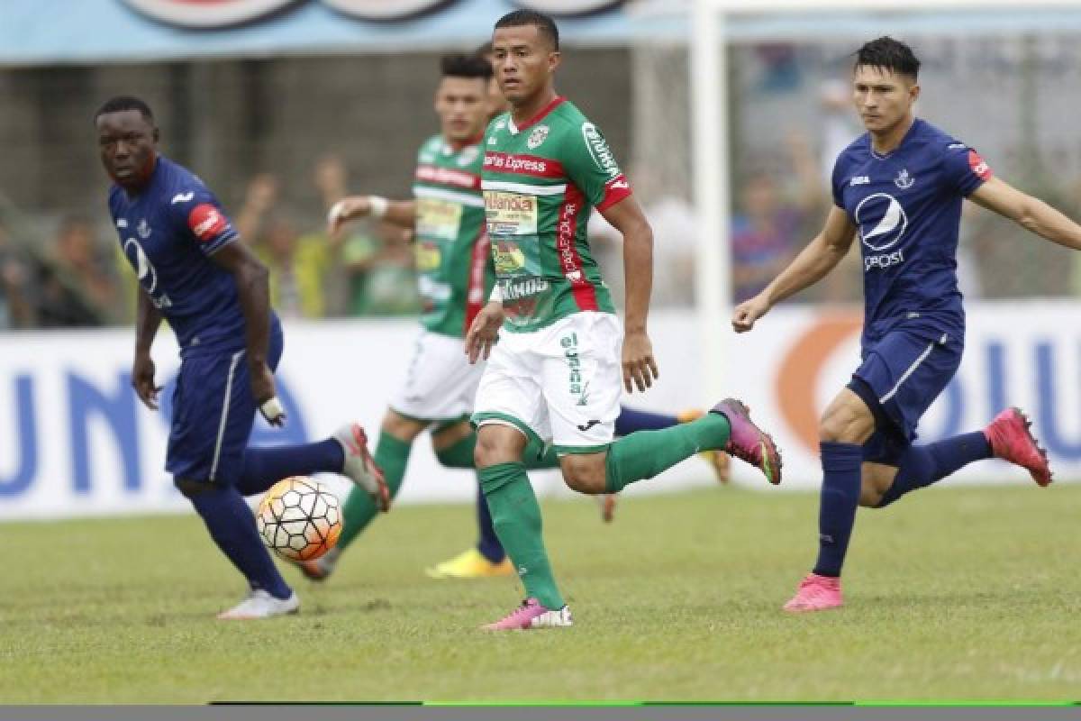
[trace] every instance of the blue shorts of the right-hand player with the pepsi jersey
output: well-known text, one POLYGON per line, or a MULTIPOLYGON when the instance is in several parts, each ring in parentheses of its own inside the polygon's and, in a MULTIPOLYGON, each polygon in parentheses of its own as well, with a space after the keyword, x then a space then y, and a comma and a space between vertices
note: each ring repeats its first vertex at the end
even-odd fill
POLYGON ((916 440, 916 426, 961 364, 961 334, 898 329, 863 349, 849 388, 875 414, 864 460, 896 465, 916 440))

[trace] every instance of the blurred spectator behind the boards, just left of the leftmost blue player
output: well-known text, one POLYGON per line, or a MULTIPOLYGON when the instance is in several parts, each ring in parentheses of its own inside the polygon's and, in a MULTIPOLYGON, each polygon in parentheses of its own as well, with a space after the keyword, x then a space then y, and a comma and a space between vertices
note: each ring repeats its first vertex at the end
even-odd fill
POLYGON ((105 325, 117 320, 118 284, 111 256, 89 221, 69 216, 61 223, 52 258, 38 270, 37 317, 42 328, 105 325))

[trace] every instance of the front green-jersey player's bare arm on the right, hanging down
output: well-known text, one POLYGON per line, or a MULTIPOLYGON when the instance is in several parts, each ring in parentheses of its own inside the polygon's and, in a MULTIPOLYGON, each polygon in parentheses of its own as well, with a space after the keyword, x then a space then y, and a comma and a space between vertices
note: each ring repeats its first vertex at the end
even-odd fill
POLYGON ((633 196, 601 211, 604 219, 623 235, 623 269, 626 286, 626 319, 623 339, 623 385, 645 390, 658 377, 653 344, 646 333, 650 293, 653 291, 653 228, 633 196))

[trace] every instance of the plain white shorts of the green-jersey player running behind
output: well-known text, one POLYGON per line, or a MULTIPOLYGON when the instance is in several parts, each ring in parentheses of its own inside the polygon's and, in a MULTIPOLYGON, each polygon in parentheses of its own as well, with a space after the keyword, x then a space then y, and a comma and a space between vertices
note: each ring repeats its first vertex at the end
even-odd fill
POLYGON ((421 331, 405 383, 390 410, 416 420, 456 420, 472 413, 484 363, 469 364, 465 341, 421 331))

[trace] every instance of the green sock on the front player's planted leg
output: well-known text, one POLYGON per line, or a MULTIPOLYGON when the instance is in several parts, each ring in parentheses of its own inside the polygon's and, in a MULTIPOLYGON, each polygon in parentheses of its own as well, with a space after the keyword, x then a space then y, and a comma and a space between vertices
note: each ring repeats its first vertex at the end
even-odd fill
POLYGON ((492 513, 492 525, 521 576, 525 595, 536 598, 546 609, 562 609, 565 603, 556 588, 544 548, 540 506, 525 475, 525 465, 502 463, 481 468, 477 475, 492 513))

